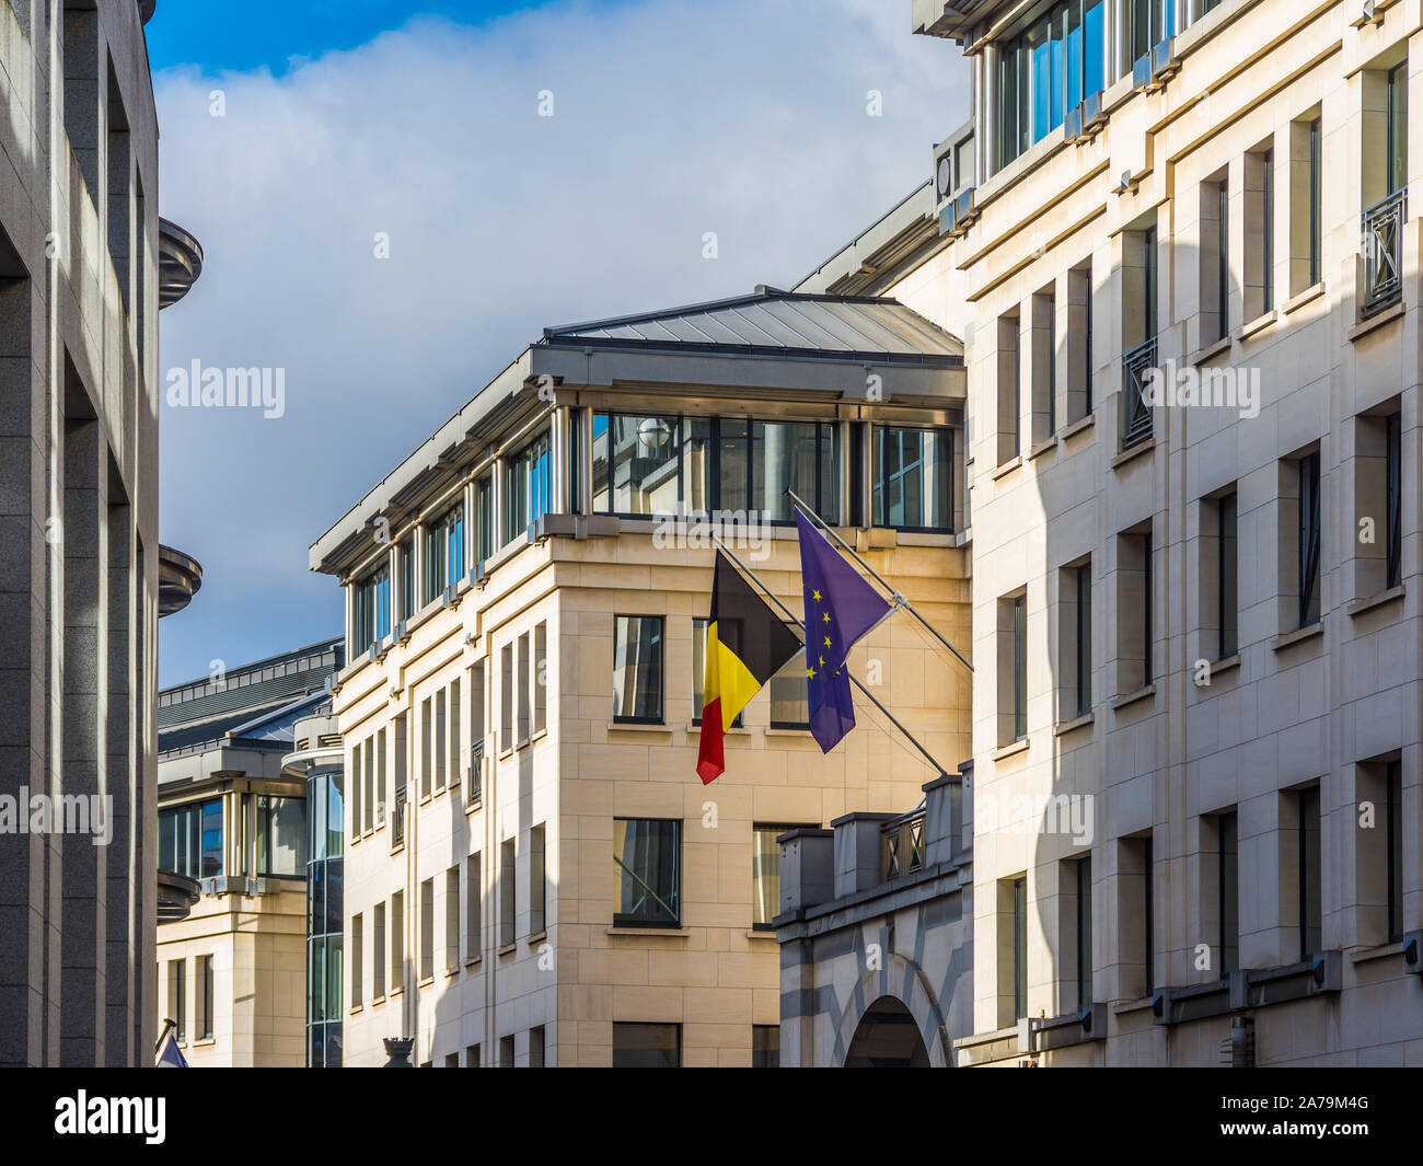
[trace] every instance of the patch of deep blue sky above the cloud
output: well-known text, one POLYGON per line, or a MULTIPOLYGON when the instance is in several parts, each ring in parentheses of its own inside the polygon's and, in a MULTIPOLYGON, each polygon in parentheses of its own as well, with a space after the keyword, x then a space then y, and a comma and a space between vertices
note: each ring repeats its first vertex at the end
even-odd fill
POLYGON ((286 73, 296 58, 333 48, 356 48, 379 33, 398 28, 417 13, 477 26, 529 0, 158 0, 148 24, 148 61, 154 71, 199 65, 208 73, 248 71, 266 65, 286 73))

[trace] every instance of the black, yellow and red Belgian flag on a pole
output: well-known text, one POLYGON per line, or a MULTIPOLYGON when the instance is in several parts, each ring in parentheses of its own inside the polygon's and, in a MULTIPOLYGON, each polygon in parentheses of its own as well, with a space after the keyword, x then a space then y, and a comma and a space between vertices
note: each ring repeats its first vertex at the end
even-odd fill
POLYGON ((801 649, 795 634, 720 551, 712 578, 706 671, 702 679, 702 784, 726 772, 721 740, 753 696, 801 649))

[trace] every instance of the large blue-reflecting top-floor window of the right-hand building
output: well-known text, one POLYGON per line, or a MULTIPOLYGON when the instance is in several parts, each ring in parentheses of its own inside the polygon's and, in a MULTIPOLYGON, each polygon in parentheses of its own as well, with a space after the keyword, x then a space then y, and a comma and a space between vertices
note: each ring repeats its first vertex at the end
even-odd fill
POLYGON ((1103 0, 1053 4, 1000 46, 998 168, 1103 88, 1103 0))

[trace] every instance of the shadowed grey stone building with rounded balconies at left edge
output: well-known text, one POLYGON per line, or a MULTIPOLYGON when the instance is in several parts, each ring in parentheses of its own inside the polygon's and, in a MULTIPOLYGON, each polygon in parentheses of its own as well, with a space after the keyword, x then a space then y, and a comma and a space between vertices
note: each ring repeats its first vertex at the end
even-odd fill
POLYGON ((158 309, 201 249, 158 218, 152 10, 0 4, 0 794, 112 799, 107 846, 0 834, 4 1065, 157 1035, 158 309))

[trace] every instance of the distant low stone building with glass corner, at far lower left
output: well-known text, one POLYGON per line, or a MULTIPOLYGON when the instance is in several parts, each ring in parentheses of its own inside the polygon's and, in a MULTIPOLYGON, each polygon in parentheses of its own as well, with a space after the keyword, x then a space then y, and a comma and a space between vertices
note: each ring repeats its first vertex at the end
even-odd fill
MULTIPOLYGON (((158 927, 158 1004, 194 1068, 340 1065, 342 830, 332 854, 324 782, 340 736, 324 713, 344 651, 320 641, 158 693, 158 867, 199 893, 158 927)), ((337 823, 340 804, 337 780, 337 823)))

